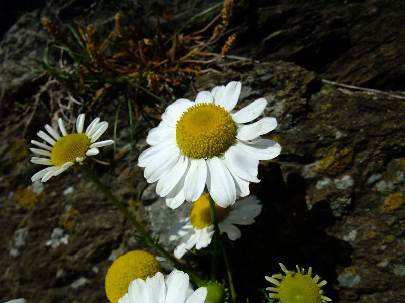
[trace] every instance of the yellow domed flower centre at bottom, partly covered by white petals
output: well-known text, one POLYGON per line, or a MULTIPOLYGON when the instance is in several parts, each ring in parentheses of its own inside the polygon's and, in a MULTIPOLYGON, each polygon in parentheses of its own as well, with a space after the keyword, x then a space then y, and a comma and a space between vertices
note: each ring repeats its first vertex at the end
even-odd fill
POLYGON ((118 300, 128 292, 132 280, 153 277, 161 271, 157 259, 144 250, 134 250, 119 257, 112 263, 105 276, 105 293, 111 303, 118 300))

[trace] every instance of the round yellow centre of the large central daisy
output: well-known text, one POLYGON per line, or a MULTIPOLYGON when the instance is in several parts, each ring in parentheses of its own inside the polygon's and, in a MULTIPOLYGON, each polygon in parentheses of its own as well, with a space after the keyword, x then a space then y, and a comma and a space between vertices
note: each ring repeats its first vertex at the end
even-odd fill
POLYGON ((177 145, 193 158, 220 156, 234 143, 236 125, 219 105, 199 103, 185 111, 176 124, 177 145))

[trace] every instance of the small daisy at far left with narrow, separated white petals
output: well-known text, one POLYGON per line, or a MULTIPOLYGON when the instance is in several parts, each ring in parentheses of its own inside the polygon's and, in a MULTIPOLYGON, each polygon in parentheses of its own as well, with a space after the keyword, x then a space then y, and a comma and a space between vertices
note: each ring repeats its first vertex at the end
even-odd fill
POLYGON ((80 114, 76 120, 77 133, 68 134, 62 118, 58 119, 58 126, 62 136, 50 125, 45 125, 46 131, 37 133, 38 137, 46 143, 31 140, 31 143, 40 148, 30 148, 32 153, 44 156, 32 157, 31 162, 47 165, 47 168, 37 172, 32 176, 32 182, 41 179, 42 182, 48 181, 53 176, 57 176, 67 170, 75 162, 82 162, 86 156, 95 156, 100 151, 99 147, 111 145, 113 140, 96 142, 107 130, 108 122, 100 122, 100 118, 94 119, 86 131, 83 133, 85 123, 85 114, 80 114))

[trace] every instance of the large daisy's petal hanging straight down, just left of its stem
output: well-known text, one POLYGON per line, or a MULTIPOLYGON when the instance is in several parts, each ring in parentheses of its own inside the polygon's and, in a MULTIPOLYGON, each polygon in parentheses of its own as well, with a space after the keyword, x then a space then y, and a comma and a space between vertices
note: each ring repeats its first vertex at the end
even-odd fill
POLYGON ((203 194, 207 180, 207 164, 204 159, 191 159, 184 181, 184 196, 187 201, 196 201, 203 194))

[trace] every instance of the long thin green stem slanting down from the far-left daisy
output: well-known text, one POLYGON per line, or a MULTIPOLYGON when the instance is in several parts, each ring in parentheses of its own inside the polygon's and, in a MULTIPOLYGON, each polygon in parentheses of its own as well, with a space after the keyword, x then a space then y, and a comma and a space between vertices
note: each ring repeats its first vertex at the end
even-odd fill
POLYGON ((170 260, 174 266, 179 269, 185 271, 194 281, 197 283, 198 286, 203 286, 206 283, 203 279, 199 278, 195 273, 193 273, 188 268, 184 267, 180 262, 174 258, 163 246, 161 246, 157 240, 153 239, 152 236, 146 231, 146 229, 139 223, 135 217, 127 210, 127 208, 109 191, 107 187, 101 183, 100 179, 93 173, 93 171, 86 165, 81 164, 78 165, 85 174, 97 185, 98 188, 108 197, 108 199, 118 208, 118 210, 132 223, 132 225, 144 236, 146 243, 155 247, 161 254, 165 256, 168 260, 170 260))

